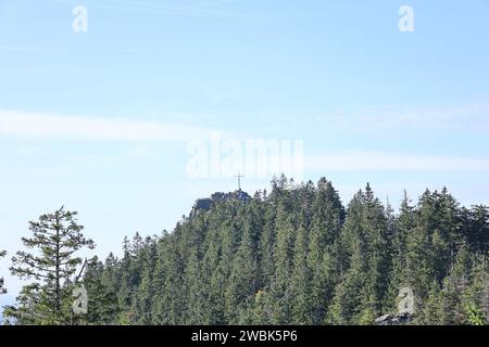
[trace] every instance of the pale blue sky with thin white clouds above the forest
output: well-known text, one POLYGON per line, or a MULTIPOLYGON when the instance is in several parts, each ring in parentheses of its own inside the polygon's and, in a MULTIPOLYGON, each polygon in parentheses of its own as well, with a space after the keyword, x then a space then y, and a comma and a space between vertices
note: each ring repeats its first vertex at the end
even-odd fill
POLYGON ((186 175, 211 131, 303 141, 304 178, 344 203, 368 181, 393 205, 443 185, 489 204, 488 38, 487 0, 0 0, 0 248, 63 204, 101 256, 172 229, 236 188, 186 175))

